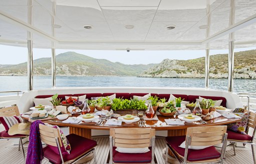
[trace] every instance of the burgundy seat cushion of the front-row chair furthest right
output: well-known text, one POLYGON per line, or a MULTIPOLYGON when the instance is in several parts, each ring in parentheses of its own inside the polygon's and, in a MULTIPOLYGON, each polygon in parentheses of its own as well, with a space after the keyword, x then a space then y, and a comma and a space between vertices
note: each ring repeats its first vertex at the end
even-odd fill
MULTIPOLYGON (((179 147, 179 145, 185 140, 186 136, 167 136, 165 141, 180 155, 184 156, 185 149, 179 147)), ((206 147, 203 149, 188 149, 187 160, 188 161, 200 161, 219 158, 220 153, 214 146, 206 147)))

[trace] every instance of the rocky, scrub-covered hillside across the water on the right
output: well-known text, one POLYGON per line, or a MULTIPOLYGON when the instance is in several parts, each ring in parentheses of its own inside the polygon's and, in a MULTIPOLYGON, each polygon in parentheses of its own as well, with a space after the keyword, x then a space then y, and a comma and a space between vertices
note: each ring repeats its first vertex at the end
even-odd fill
MULTIPOLYGON (((205 57, 190 60, 164 59, 140 74, 142 77, 204 77, 205 57)), ((210 55, 209 76, 227 78, 227 54, 210 55)), ((256 50, 234 53, 234 78, 256 79, 256 50)))

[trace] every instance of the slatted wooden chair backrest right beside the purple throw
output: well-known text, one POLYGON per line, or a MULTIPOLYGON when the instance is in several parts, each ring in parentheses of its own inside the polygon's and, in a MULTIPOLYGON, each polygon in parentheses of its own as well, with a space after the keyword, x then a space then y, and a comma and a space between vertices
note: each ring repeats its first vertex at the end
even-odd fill
POLYGON ((43 124, 39 124, 39 132, 41 140, 52 146, 57 146, 55 138, 57 137, 59 140, 60 147, 62 146, 62 141, 60 139, 60 135, 57 128, 49 127, 43 124))

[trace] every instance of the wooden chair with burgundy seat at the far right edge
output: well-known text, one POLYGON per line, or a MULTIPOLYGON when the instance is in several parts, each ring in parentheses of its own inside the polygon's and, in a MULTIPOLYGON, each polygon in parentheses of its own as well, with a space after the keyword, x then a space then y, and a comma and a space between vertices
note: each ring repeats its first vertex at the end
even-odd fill
MULTIPOLYGON (((244 112, 246 112, 248 110, 244 110, 244 112)), ((230 141, 231 143, 233 143, 233 150, 234 150, 234 155, 235 155, 235 145, 234 143, 242 143, 242 144, 250 144, 251 145, 251 151, 252 151, 252 157, 253 157, 253 162, 254 164, 256 164, 256 160, 255 160, 255 152, 254 152, 254 148, 253 145, 256 145, 255 143, 253 143, 253 138, 255 135, 255 131, 256 131, 256 113, 250 111, 249 113, 249 119, 247 122, 247 126, 251 127, 253 129, 252 135, 248 135, 248 134, 241 134, 238 132, 234 132, 231 130, 227 130, 227 141, 230 141)))

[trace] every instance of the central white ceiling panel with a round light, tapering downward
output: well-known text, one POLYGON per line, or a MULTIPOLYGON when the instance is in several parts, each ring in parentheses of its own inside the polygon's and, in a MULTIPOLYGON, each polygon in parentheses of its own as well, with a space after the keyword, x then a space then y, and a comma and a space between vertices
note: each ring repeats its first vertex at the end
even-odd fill
POLYGON ((144 40, 156 7, 102 7, 107 24, 116 40, 144 40), (127 29, 125 25, 133 25, 127 29))

